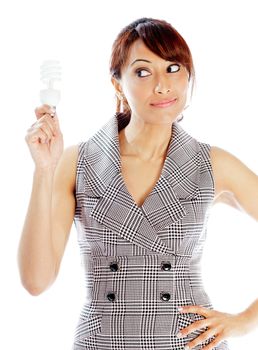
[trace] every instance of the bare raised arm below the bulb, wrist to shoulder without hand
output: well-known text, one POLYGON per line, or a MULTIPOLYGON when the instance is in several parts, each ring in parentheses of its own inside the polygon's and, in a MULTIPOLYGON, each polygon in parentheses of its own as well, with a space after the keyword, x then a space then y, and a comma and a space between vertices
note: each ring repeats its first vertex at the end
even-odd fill
POLYGON ((18 249, 21 282, 38 295, 55 281, 74 217, 78 146, 67 148, 55 170, 34 171, 18 249))

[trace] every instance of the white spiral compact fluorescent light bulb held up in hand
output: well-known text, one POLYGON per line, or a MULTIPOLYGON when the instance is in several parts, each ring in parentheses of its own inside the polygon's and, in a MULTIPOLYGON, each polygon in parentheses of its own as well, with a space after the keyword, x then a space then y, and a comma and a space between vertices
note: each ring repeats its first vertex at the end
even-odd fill
POLYGON ((51 107, 56 107, 60 101, 60 90, 54 89, 54 83, 61 81, 61 65, 57 60, 45 60, 40 66, 40 80, 47 86, 40 90, 40 101, 51 107))

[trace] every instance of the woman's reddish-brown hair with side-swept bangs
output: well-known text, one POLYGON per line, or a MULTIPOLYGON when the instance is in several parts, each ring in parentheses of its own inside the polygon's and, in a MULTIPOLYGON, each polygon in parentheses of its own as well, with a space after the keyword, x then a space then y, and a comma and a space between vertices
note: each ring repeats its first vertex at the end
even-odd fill
MULTIPOLYGON (((143 17, 120 31, 112 46, 109 67, 111 76, 117 80, 121 79, 121 70, 128 57, 129 49, 137 39, 142 39, 144 44, 161 58, 167 61, 177 61, 186 67, 189 81, 192 79, 192 98, 195 70, 191 51, 184 38, 164 20, 143 17)), ((116 113, 120 113, 120 105, 123 103, 123 114, 130 118, 131 110, 126 99, 121 102, 117 97, 116 101, 116 113)))

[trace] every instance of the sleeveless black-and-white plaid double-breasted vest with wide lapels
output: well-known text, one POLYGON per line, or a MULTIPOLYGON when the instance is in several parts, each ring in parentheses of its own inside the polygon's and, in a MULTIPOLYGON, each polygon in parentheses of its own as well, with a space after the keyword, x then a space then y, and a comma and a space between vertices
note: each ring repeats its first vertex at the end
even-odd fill
MULTIPOLYGON (((161 175, 138 207, 121 174, 118 133, 127 123, 114 115, 79 143, 74 223, 87 300, 74 350, 184 349, 205 329, 176 334, 204 317, 178 306, 213 308, 201 276, 214 198, 210 145, 174 122, 161 175)), ((228 350, 227 341, 214 349, 228 350)))

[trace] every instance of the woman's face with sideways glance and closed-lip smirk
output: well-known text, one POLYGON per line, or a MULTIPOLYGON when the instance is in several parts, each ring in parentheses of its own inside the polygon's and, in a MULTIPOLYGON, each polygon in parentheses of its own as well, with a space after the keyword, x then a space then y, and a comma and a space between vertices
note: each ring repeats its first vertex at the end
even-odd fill
POLYGON ((121 79, 112 78, 112 83, 117 92, 126 97, 132 117, 136 115, 146 122, 160 124, 171 123, 182 113, 187 100, 188 77, 182 64, 162 59, 137 39, 129 50, 121 79), (173 103, 157 105, 174 99, 173 103))

